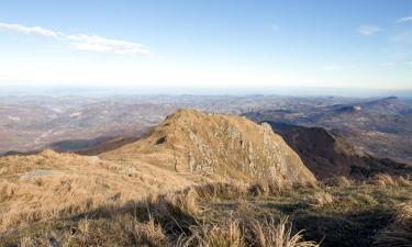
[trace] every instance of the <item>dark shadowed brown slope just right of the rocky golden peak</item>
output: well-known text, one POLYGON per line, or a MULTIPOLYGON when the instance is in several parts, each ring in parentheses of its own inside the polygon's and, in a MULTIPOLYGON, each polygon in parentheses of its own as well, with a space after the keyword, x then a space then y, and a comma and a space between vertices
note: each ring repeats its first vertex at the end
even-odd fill
POLYGON ((335 176, 365 179, 377 173, 412 175, 412 168, 391 159, 364 153, 342 136, 322 127, 303 127, 269 122, 275 132, 300 155, 308 168, 319 178, 335 176))

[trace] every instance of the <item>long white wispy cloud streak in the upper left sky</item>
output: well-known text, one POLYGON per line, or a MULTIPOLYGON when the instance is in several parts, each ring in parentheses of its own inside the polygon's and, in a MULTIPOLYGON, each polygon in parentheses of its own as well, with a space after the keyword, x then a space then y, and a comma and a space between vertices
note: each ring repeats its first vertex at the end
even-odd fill
POLYGON ((20 24, 0 23, 0 31, 53 37, 58 42, 68 43, 70 47, 77 50, 115 54, 122 56, 141 56, 151 54, 149 48, 140 43, 111 40, 89 34, 67 35, 42 26, 24 26, 20 24))

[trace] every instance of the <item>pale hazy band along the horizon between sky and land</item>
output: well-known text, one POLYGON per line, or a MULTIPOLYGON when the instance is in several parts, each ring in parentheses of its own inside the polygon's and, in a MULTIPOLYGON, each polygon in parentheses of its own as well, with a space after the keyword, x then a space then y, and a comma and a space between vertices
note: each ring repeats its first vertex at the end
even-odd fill
POLYGON ((412 98, 411 90, 354 89, 354 88, 293 88, 293 87, 241 87, 241 88, 192 88, 192 87, 5 87, 0 86, 0 96, 279 96, 279 97, 346 97, 346 98, 412 98))

